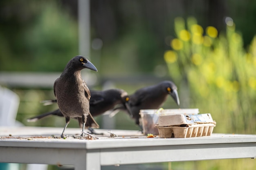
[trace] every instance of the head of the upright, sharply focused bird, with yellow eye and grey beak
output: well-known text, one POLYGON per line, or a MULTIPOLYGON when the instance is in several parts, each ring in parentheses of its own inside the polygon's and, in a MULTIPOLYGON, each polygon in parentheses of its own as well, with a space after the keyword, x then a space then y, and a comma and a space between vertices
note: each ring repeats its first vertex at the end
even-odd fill
POLYGON ((87 58, 81 55, 74 57, 70 62, 72 62, 72 65, 75 65, 79 70, 88 68, 90 70, 97 71, 97 68, 87 58))

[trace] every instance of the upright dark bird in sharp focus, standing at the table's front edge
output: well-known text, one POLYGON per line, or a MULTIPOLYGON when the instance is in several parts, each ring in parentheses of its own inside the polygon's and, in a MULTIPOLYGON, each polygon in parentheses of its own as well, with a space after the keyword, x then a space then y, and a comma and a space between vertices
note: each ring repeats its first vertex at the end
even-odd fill
POLYGON ((65 129, 70 122, 71 117, 76 117, 83 123, 83 136, 87 117, 94 121, 96 127, 99 127, 90 113, 90 90, 86 86, 81 77, 81 70, 89 68, 97 71, 97 68, 85 57, 78 55, 72 58, 66 65, 61 76, 54 82, 54 95, 57 100, 58 107, 66 119, 66 124, 61 134, 64 137, 65 129))

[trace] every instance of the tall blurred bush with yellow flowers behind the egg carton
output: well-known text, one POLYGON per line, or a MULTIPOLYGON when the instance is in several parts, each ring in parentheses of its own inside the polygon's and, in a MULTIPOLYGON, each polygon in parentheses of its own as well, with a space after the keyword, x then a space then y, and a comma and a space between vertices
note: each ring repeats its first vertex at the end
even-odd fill
MULTIPOLYGON (((216 120, 213 132, 255 134, 256 36, 246 50, 233 21, 228 18, 226 23, 226 31, 218 33, 213 26, 203 29, 195 18, 186 22, 176 18, 177 38, 171 40, 172 49, 164 53, 164 59, 174 82, 189 88, 189 107, 211 113, 216 120)), ((250 170, 255 161, 232 159, 174 165, 183 170, 250 170)))

